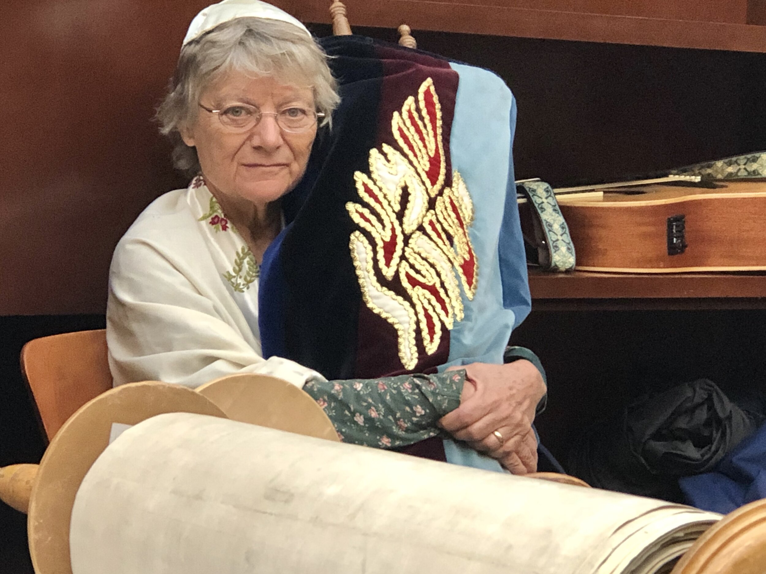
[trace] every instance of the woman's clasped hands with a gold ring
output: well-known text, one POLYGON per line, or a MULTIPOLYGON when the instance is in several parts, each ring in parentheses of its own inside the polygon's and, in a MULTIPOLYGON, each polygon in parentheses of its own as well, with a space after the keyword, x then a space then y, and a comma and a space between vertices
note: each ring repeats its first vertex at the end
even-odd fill
POLYGON ((514 475, 537 469, 537 440, 532 430, 535 408, 545 395, 542 375, 529 360, 465 367, 460 407, 439 424, 456 439, 486 452, 514 475), (473 384, 471 384, 473 383, 473 384), (494 432, 502 435, 502 442, 494 432))

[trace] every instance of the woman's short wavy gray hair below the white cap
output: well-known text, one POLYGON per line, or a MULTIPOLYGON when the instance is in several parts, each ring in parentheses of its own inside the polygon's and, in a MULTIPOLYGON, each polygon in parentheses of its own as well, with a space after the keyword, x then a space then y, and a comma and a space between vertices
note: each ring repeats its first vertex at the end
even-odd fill
POLYGON ((327 55, 305 31, 264 18, 235 18, 218 24, 182 48, 169 93, 157 109, 160 132, 174 146, 173 165, 189 175, 198 173, 199 160, 180 130, 196 119, 205 86, 232 70, 311 87, 316 109, 325 114, 321 126, 331 125, 332 110, 340 102, 327 55))

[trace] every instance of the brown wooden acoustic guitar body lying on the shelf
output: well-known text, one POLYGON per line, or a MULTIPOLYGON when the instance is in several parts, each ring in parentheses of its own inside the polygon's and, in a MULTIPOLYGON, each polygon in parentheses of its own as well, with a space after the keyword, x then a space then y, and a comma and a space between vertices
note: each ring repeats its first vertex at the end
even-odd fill
POLYGON ((583 271, 766 269, 766 181, 717 189, 651 185, 561 196, 558 204, 583 271))

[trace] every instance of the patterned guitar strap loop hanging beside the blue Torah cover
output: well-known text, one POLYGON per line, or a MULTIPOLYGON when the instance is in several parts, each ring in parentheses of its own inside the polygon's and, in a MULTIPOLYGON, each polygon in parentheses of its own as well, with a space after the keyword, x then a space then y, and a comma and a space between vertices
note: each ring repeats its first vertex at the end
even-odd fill
POLYGON ((545 181, 525 181, 516 184, 532 207, 534 245, 525 237, 527 259, 545 271, 571 271, 575 269, 575 245, 569 228, 550 185, 545 181))

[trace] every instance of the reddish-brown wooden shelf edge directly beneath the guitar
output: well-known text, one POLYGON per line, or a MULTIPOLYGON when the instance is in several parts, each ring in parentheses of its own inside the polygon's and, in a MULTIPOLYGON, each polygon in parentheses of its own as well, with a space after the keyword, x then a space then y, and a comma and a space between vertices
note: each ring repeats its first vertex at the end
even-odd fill
POLYGON ((546 273, 529 270, 535 308, 766 308, 761 273, 546 273))

